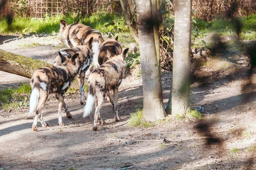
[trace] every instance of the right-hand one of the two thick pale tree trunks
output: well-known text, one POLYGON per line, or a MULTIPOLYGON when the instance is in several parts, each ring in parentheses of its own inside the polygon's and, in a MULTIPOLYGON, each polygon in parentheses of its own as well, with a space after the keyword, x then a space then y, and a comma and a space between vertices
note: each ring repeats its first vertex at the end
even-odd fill
POLYGON ((185 113, 190 106, 191 4, 191 0, 175 0, 173 77, 170 92, 174 116, 185 113))

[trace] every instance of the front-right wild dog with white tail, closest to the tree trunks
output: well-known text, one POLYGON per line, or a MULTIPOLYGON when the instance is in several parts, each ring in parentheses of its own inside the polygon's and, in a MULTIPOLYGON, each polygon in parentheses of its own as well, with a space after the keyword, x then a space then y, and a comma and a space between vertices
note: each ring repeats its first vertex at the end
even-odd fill
MULTIPOLYGON (((122 82, 122 76, 125 71, 125 58, 127 57, 128 49, 129 48, 126 48, 122 54, 112 57, 99 66, 99 68, 96 68, 88 78, 89 91, 83 117, 90 114, 93 102, 95 102, 96 110, 94 114, 93 130, 97 130, 98 120, 101 125, 103 124, 99 111, 102 108, 106 94, 113 105, 115 120, 120 120, 117 112, 118 88, 122 82), (113 99, 110 95, 111 90, 113 90, 113 99)), ((107 52, 107 56, 110 57, 110 55, 110 52, 107 52)))

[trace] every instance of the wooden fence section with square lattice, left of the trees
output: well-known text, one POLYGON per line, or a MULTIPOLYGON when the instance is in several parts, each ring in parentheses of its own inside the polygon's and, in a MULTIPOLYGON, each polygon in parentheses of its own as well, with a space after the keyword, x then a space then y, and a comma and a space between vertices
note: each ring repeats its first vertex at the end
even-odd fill
POLYGON ((24 4, 6 0, 7 3, 1 8, 1 17, 12 14, 22 17, 44 18, 45 15, 75 13, 79 16, 99 13, 100 11, 121 13, 122 8, 119 0, 27 0, 24 4), (20 14, 19 8, 25 6, 26 13, 20 14))

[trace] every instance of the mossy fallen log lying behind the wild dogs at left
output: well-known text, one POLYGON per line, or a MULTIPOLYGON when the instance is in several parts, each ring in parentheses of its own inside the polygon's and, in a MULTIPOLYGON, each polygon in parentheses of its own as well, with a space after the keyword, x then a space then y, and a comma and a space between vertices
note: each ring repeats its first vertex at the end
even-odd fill
MULTIPOLYGON (((31 78, 36 69, 45 66, 52 66, 52 64, 0 49, 0 71, 31 78)), ((76 79, 72 87, 79 89, 76 79)))

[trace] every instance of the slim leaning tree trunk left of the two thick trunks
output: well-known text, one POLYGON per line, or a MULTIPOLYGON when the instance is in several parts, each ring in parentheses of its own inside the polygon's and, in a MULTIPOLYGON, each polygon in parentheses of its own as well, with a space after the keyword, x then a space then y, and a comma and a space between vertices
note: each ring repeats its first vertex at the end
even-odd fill
POLYGON ((121 3, 121 6, 122 6, 122 11, 125 15, 125 20, 126 20, 127 26, 130 29, 131 35, 134 37, 135 42, 137 44, 139 44, 138 34, 137 34, 136 29, 134 27, 132 27, 131 18, 130 18, 130 15, 128 13, 126 1, 125 0, 120 0, 120 3, 121 3))

